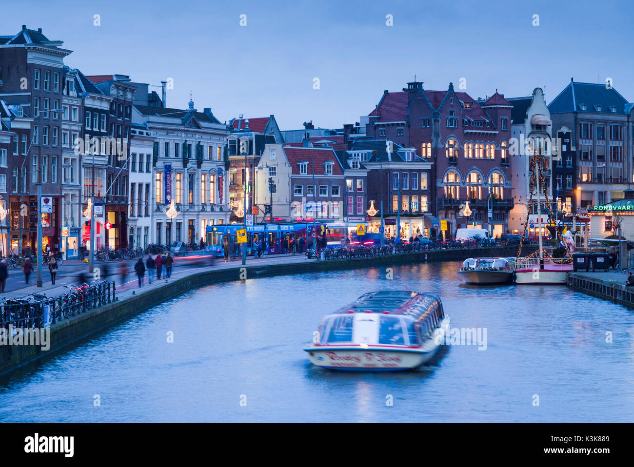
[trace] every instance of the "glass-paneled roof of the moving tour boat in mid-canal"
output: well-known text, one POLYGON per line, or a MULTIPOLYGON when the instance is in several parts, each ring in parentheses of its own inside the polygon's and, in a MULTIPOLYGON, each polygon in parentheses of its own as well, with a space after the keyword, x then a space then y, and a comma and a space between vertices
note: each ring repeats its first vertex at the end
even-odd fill
POLYGON ((381 290, 361 295, 356 302, 340 308, 342 313, 389 313, 411 316, 414 319, 438 307, 437 295, 410 290, 381 290))

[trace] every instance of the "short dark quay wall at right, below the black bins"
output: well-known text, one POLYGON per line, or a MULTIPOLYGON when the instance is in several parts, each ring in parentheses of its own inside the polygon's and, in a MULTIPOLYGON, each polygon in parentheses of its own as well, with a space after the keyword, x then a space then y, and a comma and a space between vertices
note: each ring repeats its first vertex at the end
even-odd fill
POLYGON ((625 286, 623 272, 569 272, 567 285, 594 297, 634 308, 634 287, 625 286))

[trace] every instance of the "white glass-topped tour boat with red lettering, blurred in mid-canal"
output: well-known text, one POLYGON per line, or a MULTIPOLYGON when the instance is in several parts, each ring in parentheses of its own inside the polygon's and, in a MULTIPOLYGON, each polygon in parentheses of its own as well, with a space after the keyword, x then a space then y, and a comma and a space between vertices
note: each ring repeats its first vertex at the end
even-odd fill
POLYGON ((428 362, 436 354, 449 318, 436 295, 384 290, 324 317, 304 348, 316 366, 348 371, 396 371, 428 362))

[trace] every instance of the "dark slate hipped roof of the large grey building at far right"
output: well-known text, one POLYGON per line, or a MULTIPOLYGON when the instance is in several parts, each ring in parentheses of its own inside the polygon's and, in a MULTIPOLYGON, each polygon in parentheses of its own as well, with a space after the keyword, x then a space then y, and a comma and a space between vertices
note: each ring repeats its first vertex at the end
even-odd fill
POLYGON ((605 84, 571 81, 548 105, 548 110, 550 113, 586 112, 623 115, 627 104, 627 99, 613 87, 607 89, 605 84), (586 110, 582 110, 583 105, 586 110), (598 106, 601 110, 598 110, 598 106), (616 107, 616 112, 612 112, 612 106, 616 107))

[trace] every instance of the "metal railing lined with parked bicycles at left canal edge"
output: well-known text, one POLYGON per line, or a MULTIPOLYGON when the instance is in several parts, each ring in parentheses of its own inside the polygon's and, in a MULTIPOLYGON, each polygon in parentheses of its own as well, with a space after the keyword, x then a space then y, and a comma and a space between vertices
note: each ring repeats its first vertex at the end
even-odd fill
POLYGON ((3 298, 0 328, 44 328, 115 301, 114 282, 96 281, 91 285, 66 287, 68 292, 58 297, 32 293, 27 297, 3 298))

